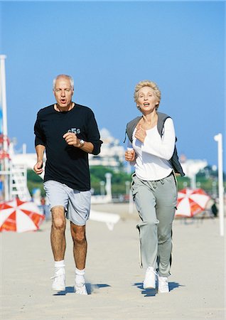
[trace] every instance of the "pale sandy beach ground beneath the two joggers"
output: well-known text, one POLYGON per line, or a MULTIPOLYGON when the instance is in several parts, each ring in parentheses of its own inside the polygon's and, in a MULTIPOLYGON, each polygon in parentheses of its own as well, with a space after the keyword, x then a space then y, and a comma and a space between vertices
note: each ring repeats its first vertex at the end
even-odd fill
POLYGON ((92 208, 121 219, 113 230, 87 223, 88 296, 73 290, 69 223, 66 290, 59 293, 51 290, 50 221, 37 232, 1 233, 1 319, 225 319, 225 243, 218 218, 174 220, 171 292, 158 294, 142 288, 136 210, 129 214, 128 204, 92 208))

